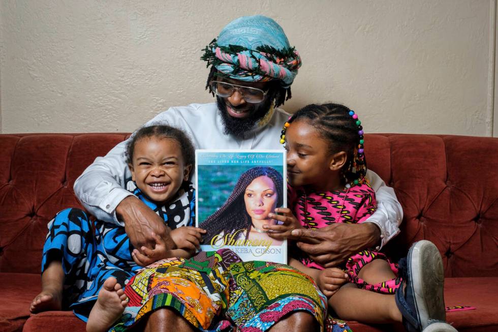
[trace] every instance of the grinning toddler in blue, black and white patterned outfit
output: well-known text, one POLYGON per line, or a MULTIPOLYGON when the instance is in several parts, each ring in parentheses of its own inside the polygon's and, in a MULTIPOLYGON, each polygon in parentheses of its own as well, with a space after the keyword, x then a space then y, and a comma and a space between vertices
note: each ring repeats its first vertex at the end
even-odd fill
MULTIPOLYGON (((69 307, 86 321, 102 286, 110 292, 110 298, 117 296, 124 305, 126 296, 120 285, 146 265, 144 261, 191 257, 204 233, 193 227, 195 191, 189 179, 194 158, 194 146, 182 131, 169 126, 138 130, 127 145, 133 181, 128 189, 164 219, 178 249, 169 250, 156 235, 154 250, 141 248, 144 256, 133 248, 123 226, 92 222, 80 209, 65 209, 48 224, 42 291, 33 300, 30 311, 69 307)), ((118 310, 122 311, 122 306, 118 310)))

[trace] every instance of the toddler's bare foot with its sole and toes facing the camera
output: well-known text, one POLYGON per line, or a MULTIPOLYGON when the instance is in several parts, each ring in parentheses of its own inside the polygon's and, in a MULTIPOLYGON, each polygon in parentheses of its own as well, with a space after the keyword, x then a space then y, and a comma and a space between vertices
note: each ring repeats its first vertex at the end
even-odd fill
POLYGON ((87 332, 104 332, 121 316, 128 304, 128 297, 124 294, 116 278, 110 277, 99 291, 99 297, 94 308, 91 309, 86 323, 87 332))

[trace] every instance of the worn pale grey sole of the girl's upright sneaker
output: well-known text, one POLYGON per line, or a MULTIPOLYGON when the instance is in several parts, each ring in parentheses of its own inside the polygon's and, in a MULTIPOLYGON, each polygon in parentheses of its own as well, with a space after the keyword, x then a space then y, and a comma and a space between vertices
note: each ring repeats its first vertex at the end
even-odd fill
POLYGON ((443 260, 438 248, 427 240, 417 242, 408 253, 408 264, 422 329, 429 325, 429 319, 446 321, 443 260))

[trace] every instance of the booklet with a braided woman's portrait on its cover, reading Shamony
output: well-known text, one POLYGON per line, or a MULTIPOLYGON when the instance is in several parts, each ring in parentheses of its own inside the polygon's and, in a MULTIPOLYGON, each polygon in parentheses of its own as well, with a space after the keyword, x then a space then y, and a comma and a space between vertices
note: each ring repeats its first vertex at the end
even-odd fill
POLYGON ((287 263, 287 240, 264 224, 287 206, 285 150, 196 150, 196 223, 201 250, 231 249, 243 261, 287 263))

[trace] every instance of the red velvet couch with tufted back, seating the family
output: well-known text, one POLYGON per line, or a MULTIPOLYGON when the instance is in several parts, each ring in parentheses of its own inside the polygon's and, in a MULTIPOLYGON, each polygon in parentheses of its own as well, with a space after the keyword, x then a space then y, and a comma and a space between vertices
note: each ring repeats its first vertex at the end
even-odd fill
MULTIPOLYGON (((79 206, 73 184, 127 134, 0 135, 0 331, 83 331, 72 312, 29 314, 40 291, 47 223, 79 206)), ((366 135, 368 166, 393 187, 404 210, 395 259, 420 239, 443 256, 447 306, 460 331, 498 330, 498 139, 366 135)), ((391 330, 350 322, 354 331, 391 330)))

